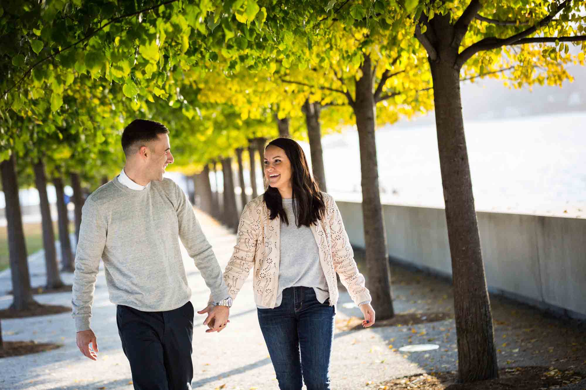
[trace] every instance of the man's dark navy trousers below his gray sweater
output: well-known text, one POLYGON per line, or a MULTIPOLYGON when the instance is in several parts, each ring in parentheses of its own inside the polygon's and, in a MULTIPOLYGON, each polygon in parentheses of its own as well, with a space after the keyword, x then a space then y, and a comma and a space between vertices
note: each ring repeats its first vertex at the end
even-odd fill
POLYGON ((166 312, 117 306, 118 334, 135 389, 191 389, 193 314, 191 302, 166 312))

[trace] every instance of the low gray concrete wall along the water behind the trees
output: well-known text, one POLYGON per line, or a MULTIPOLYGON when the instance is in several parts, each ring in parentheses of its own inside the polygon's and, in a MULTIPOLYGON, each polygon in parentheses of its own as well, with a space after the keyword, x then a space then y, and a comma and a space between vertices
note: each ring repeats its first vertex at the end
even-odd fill
MULTIPOLYGON (((362 206, 337 201, 353 245, 364 248, 362 206)), ((389 255, 451 276, 441 208, 383 205, 389 255)), ((586 220, 478 212, 489 290, 586 317, 586 220)))

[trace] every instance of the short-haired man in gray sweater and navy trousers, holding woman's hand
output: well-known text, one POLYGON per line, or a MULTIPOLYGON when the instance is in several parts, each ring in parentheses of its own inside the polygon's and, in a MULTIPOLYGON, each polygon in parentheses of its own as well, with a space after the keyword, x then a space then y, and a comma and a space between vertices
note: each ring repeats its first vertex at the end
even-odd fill
POLYGON ((77 346, 96 360, 90 318, 103 259, 135 389, 191 388, 194 313, 178 237, 217 301, 204 322, 208 331, 226 327, 231 305, 189 200, 175 182, 163 179, 173 163, 168 133, 162 124, 142 119, 124 129, 126 163, 118 177, 87 198, 75 258, 71 303, 77 346))

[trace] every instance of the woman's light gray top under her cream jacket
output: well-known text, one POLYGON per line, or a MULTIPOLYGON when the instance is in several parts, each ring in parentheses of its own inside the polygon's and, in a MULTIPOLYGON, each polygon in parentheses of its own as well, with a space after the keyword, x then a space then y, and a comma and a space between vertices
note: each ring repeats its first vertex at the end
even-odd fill
MULTIPOLYGON (((283 199, 282 202, 289 225, 281 221, 281 260, 275 307, 281 305, 283 290, 296 286, 314 288, 315 296, 320 303, 324 303, 329 297, 328 282, 319 261, 318 244, 315 242, 314 234, 311 228, 298 228, 295 224, 293 200, 283 199)), ((257 307, 265 309, 263 306, 257 307)))

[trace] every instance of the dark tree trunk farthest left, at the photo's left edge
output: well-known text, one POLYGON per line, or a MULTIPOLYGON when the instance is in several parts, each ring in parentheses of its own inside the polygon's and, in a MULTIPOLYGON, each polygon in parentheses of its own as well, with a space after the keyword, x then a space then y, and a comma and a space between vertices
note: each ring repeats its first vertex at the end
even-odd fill
POLYGON ((11 309, 26 310, 37 306, 30 289, 29 265, 26 256, 25 233, 22 228, 21 203, 18 199, 18 180, 16 179, 15 157, 0 163, 2 189, 6 202, 6 222, 8 223, 8 256, 12 276, 14 299, 11 309))

